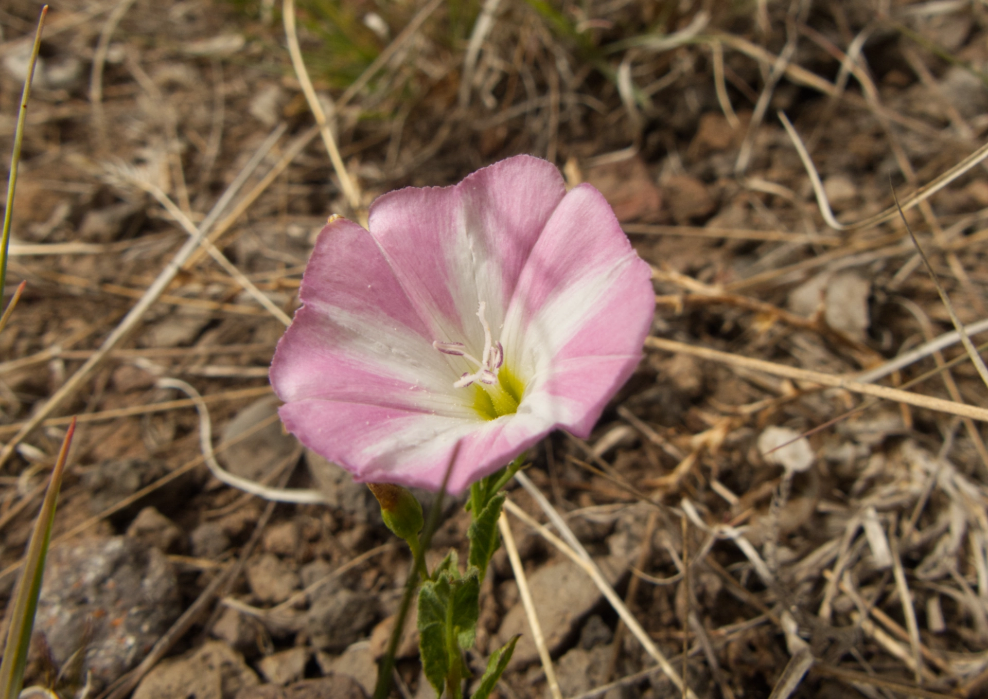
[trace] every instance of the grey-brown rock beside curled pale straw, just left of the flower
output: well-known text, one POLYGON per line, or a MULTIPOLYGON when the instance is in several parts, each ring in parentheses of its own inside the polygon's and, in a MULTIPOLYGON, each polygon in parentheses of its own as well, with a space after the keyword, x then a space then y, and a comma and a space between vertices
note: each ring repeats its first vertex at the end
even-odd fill
MULTIPOLYGON (((229 441, 278 413, 277 396, 254 401, 223 427, 222 441, 229 441)), ((216 455, 227 471, 251 481, 260 480, 268 471, 288 458, 298 441, 282 431, 281 421, 254 432, 216 455)))

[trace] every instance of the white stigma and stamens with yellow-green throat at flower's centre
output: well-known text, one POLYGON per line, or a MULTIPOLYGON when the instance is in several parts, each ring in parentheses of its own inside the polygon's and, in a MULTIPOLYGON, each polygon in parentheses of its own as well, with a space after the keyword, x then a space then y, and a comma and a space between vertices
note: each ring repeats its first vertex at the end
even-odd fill
POLYGON ((525 384, 505 366, 504 346, 493 340, 490 324, 484 315, 486 309, 487 304, 481 301, 477 318, 484 329, 484 349, 479 359, 466 351, 463 343, 437 340, 433 342, 433 347, 444 354, 461 356, 476 367, 474 372, 466 371, 454 381, 453 388, 473 386, 473 410, 484 420, 496 420, 518 412, 525 384))

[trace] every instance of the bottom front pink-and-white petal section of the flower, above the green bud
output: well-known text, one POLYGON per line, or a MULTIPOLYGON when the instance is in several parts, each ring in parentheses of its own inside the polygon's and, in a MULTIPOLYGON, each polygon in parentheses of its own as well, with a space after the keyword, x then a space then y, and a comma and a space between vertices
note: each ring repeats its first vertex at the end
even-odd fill
POLYGON ((309 448, 354 474, 355 480, 438 491, 459 443, 447 489, 459 494, 538 441, 550 426, 535 417, 487 423, 380 406, 295 401, 279 411, 309 448))

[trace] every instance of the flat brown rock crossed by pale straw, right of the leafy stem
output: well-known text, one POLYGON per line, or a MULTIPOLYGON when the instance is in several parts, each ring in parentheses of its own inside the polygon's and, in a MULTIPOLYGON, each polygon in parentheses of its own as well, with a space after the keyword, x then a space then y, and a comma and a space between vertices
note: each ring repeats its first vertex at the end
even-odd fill
MULTIPOLYGON (((601 598, 597 585, 582 568, 568 560, 539 568, 529 578, 529 587, 550 653, 558 650, 575 625, 601 598)), ((506 644, 515 634, 522 634, 522 638, 515 647, 511 666, 520 667, 538 660, 532 630, 521 602, 509 609, 501 622, 498 646, 506 644)))

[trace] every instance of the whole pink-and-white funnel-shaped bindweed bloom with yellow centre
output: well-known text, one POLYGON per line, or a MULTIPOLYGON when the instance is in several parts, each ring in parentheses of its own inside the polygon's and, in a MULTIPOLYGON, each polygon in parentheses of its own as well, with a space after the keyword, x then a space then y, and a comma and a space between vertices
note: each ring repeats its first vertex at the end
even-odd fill
POLYGON ((602 194, 516 156, 332 217, 275 352, 282 420, 358 481, 460 493, 586 436, 641 357, 650 271, 602 194), (454 451, 456 443, 459 448, 454 451))

